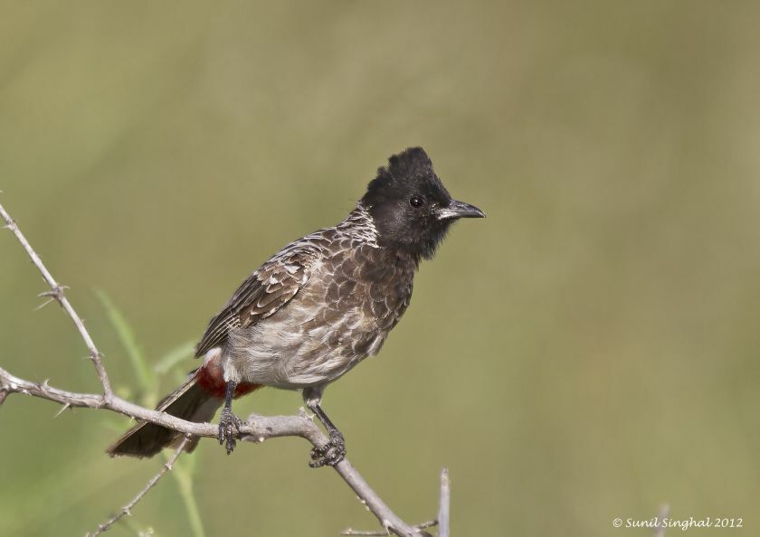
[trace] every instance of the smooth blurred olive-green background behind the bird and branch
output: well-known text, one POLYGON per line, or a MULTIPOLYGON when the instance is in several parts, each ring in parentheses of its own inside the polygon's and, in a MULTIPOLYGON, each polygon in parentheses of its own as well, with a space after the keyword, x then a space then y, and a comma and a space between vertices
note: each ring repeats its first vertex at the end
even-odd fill
MULTIPOLYGON (((489 218, 455 226, 381 355, 327 391, 368 482, 419 522, 449 466, 461 536, 650 534, 613 517, 663 502, 760 532, 760 5, 2 11, 0 199, 71 287, 120 393, 141 396, 96 289, 155 363, 272 252, 342 219, 388 155, 421 145, 489 218)), ((0 233, 0 363, 97 391, 71 320, 33 311, 43 290, 0 233)), ((236 411, 300 404, 270 390, 236 411)), ((0 408, 0 535, 81 535, 161 464, 104 455, 126 419, 57 411, 0 408)), ((204 440, 205 534, 376 527, 308 454, 288 438, 226 457, 204 440)), ((110 534, 189 534, 186 516, 167 477, 110 534)))

